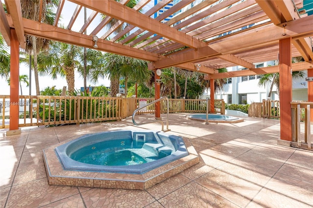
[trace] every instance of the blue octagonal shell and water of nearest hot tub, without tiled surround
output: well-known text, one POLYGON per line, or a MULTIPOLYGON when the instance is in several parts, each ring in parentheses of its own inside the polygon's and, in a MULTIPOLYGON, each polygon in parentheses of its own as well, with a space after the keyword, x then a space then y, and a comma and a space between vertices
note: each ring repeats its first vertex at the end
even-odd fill
POLYGON ((131 130, 89 134, 55 151, 66 170, 135 174, 188 155, 181 137, 131 130))

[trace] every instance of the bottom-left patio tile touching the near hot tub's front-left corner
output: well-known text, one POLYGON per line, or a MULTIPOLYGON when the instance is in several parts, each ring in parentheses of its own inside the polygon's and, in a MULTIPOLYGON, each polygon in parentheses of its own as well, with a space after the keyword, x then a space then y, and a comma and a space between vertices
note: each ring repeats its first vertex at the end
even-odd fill
POLYGON ((40 207, 78 194, 77 187, 49 186, 46 178, 13 186, 8 207, 40 207))

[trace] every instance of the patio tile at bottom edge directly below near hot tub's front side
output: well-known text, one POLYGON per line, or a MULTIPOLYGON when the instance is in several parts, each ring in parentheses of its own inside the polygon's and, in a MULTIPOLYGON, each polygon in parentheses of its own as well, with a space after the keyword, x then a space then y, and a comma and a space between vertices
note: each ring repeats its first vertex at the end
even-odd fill
POLYGON ((145 207, 156 201, 144 190, 93 188, 81 195, 88 208, 145 207))

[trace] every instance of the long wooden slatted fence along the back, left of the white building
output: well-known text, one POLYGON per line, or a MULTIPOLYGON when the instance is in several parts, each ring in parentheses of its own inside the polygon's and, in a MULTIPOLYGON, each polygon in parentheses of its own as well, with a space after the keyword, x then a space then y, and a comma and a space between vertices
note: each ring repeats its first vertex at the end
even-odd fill
MULTIPOLYGON (((0 95, 0 128, 9 128, 10 96, 0 95)), ((121 120, 131 116, 140 100, 147 104, 154 98, 112 98, 85 96, 19 96, 19 127, 62 125, 121 120)), ((206 100, 169 99, 170 112, 206 112, 206 100)), ((161 101, 161 113, 166 112, 161 101)), ((154 105, 138 114, 155 113, 154 105)), ((215 101, 215 112, 224 114, 223 100, 215 101)))

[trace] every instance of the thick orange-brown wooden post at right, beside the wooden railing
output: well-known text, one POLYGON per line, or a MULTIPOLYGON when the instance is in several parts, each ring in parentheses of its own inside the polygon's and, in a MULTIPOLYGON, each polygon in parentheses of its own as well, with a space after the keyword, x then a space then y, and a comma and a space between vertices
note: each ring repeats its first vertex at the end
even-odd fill
POLYGON ((291 141, 291 38, 279 41, 280 139, 291 141))

